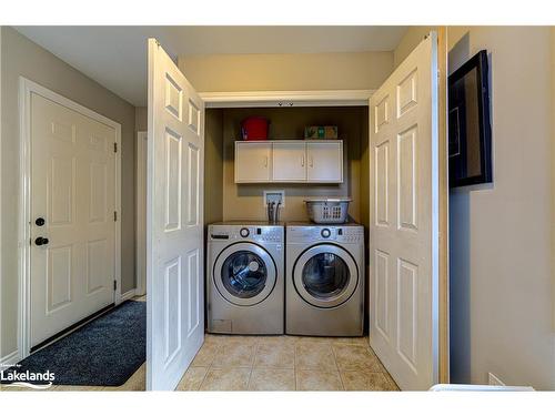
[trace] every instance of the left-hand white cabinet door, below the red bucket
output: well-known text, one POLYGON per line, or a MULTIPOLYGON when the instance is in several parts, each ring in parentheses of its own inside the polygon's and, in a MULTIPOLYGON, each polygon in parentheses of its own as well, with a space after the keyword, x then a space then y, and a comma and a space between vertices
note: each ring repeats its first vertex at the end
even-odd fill
POLYGON ((272 143, 235 142, 235 182, 269 182, 272 143))

